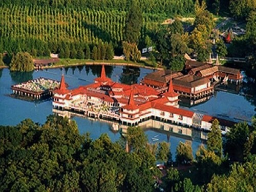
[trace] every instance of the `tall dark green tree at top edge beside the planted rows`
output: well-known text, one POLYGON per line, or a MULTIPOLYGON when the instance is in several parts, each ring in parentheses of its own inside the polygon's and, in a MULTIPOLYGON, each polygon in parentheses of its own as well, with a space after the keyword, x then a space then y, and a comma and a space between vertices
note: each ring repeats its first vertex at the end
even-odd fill
POLYGON ((138 44, 142 27, 142 12, 137 0, 133 0, 127 13, 124 29, 124 40, 138 44))

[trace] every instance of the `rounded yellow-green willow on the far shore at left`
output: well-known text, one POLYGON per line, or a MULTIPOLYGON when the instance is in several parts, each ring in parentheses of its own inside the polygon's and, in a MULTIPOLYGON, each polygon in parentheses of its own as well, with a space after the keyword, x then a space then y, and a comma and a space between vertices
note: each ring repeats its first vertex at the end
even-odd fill
POLYGON ((34 63, 32 56, 25 52, 19 52, 13 56, 10 63, 11 71, 28 72, 34 70, 34 63))

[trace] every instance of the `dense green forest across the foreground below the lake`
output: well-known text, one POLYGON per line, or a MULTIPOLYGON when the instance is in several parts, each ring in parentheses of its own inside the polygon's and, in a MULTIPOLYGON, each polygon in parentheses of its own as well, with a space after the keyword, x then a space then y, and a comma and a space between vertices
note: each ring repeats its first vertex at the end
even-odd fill
POLYGON ((96 140, 80 135, 68 118, 50 115, 44 124, 26 119, 0 126, 0 190, 253 191, 256 119, 231 130, 223 142, 215 120, 194 158, 191 142, 180 142, 171 154, 169 143, 149 144, 139 127, 113 143, 106 134, 96 140), (166 174, 157 162, 166 165, 166 174))

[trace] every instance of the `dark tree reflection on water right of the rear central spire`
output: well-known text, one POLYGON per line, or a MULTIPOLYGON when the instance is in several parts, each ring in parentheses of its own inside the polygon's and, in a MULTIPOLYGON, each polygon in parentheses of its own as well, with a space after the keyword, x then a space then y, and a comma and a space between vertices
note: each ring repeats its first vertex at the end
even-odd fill
POLYGON ((125 84, 133 84, 138 82, 139 76, 140 68, 125 66, 123 67, 119 81, 125 84))

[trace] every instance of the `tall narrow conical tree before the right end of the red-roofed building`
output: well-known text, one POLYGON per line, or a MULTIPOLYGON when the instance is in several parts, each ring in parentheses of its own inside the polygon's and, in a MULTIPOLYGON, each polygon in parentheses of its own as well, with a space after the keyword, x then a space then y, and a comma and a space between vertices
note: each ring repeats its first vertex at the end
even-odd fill
POLYGON ((207 150, 222 158, 222 137, 218 119, 212 122, 210 133, 207 134, 207 150))

